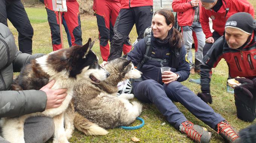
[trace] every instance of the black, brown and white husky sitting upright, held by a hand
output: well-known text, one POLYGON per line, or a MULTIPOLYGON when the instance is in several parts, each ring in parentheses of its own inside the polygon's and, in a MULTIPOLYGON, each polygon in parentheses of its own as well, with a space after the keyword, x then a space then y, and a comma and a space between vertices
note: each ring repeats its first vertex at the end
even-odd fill
MULTIPOLYGON (((32 60, 14 81, 12 90, 40 89, 50 80, 55 80, 52 89, 67 88, 67 96, 61 106, 46 109, 44 112, 31 113, 15 118, 2 118, 3 137, 11 143, 24 143, 24 121, 30 116, 53 117, 55 124, 54 143, 68 143, 64 129, 64 112, 72 99, 76 82, 87 79, 92 83, 105 80, 109 73, 98 64, 97 56, 90 50, 91 39, 84 46, 73 46, 51 52, 32 60)), ((70 127, 71 125, 66 125, 70 127)))

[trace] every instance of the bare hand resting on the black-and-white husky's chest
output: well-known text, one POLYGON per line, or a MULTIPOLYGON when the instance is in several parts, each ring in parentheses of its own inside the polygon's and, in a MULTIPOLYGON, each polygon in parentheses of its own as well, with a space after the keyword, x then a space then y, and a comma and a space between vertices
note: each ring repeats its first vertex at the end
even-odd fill
POLYGON ((62 102, 67 96, 67 88, 61 88, 56 90, 51 89, 54 83, 55 80, 52 80, 40 89, 41 91, 46 92, 47 102, 45 109, 57 108, 61 106, 62 102))

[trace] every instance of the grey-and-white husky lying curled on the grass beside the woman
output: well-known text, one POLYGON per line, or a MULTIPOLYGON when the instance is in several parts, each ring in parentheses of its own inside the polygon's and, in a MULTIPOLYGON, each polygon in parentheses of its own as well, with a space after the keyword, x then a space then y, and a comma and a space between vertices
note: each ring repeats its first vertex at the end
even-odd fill
POLYGON ((141 72, 134 68, 131 60, 118 58, 105 66, 110 76, 99 84, 79 82, 74 88, 75 127, 87 135, 104 135, 104 129, 128 126, 142 112, 142 104, 130 103, 133 94, 116 97, 117 83, 130 78, 139 78, 141 72))

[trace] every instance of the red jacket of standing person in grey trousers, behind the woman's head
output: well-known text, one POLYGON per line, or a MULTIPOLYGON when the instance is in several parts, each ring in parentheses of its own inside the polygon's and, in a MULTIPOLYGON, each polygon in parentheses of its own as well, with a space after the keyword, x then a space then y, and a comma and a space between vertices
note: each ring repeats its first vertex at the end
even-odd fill
MULTIPOLYGON (((172 9, 177 12, 178 24, 180 26, 191 26, 195 10, 190 4, 191 0, 173 0, 172 9)), ((201 12, 201 1, 199 1, 199 13, 201 12)))

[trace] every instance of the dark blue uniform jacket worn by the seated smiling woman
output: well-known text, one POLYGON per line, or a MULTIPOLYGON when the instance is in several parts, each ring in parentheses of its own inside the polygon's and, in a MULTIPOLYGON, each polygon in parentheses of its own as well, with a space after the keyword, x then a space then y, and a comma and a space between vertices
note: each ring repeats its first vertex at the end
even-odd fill
MULTIPOLYGON (((171 51, 171 46, 169 45, 169 42, 163 45, 160 45, 157 43, 156 39, 151 36, 151 44, 152 44, 152 58, 159 58, 159 59, 171 59, 169 56, 174 56, 171 51)), ((135 46, 134 49, 128 53, 127 58, 128 60, 132 60, 132 63, 134 66, 137 66, 137 64, 142 61, 143 55, 145 54, 146 47, 145 47, 145 40, 141 39, 135 46)), ((189 63, 186 61, 186 50, 184 46, 182 46, 180 50, 180 58, 174 58, 176 59, 179 64, 177 68, 172 67, 173 63, 172 61, 169 61, 167 63, 162 63, 164 67, 171 67, 171 71, 177 73, 180 75, 180 78, 178 78, 177 81, 182 82, 186 80, 189 77, 189 63), (169 64, 170 63, 170 64, 169 64)), ((146 60, 143 66, 140 68, 140 71, 142 74, 142 79, 153 79, 157 81, 158 83, 162 84, 162 74, 160 70, 160 61, 154 61, 154 60, 146 60)))

